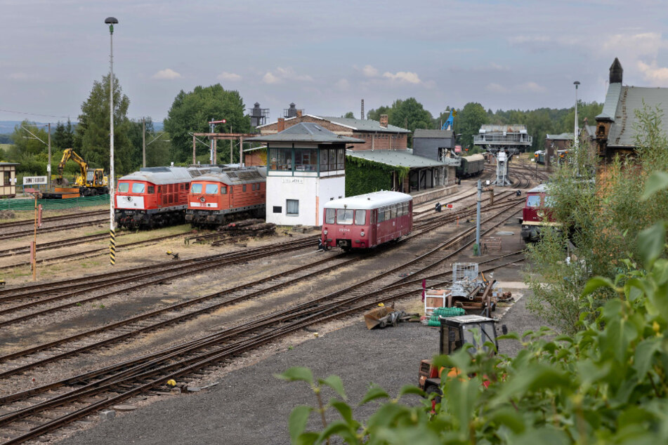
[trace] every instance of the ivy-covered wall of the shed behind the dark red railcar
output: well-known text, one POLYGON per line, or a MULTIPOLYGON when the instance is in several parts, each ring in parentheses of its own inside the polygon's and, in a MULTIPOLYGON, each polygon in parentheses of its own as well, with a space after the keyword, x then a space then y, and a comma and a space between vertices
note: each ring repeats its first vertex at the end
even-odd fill
POLYGON ((358 194, 392 190, 392 172, 402 181, 408 167, 393 167, 358 157, 346 156, 346 197, 358 194))

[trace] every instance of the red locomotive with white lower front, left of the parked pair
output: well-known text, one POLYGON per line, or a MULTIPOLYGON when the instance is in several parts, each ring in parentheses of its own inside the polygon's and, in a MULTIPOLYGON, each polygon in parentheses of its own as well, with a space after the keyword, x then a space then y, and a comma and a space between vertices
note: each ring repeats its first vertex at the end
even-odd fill
POLYGON ((118 180, 116 223, 129 229, 183 223, 191 172, 185 167, 148 167, 118 180))

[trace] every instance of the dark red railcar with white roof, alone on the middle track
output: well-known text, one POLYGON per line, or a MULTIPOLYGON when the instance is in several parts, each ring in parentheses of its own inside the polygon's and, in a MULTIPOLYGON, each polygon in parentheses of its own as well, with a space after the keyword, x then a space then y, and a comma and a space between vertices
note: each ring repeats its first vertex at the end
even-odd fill
POLYGON ((413 228, 413 197, 374 192, 325 204, 321 246, 343 250, 371 248, 399 239, 413 228))

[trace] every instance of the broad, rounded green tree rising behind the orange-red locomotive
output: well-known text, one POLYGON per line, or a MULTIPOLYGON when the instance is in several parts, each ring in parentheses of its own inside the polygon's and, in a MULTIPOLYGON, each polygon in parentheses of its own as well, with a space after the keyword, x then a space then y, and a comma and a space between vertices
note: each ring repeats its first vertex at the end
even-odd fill
MULTIPOLYGON (((226 91, 221 84, 196 86, 189 93, 181 90, 164 120, 164 129, 171 138, 172 159, 178 162, 190 159, 192 137, 188 133, 208 133, 209 121, 222 119, 225 119, 225 124, 216 124, 214 132, 250 131, 250 119, 245 114, 244 101, 238 91, 226 91)), ((226 150, 222 153, 225 159, 226 150)))

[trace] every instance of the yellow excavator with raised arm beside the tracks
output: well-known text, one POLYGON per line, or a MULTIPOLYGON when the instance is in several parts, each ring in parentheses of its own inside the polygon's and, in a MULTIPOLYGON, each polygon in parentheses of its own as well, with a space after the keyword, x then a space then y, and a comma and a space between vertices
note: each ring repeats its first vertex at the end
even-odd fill
POLYGON ((63 170, 65 170, 65 164, 67 164, 67 161, 70 159, 79 164, 79 168, 81 169, 81 173, 74 182, 74 187, 55 187, 54 192, 44 194, 45 198, 61 199, 71 198, 77 195, 80 197, 92 197, 97 194, 109 193, 109 178, 105 176, 103 169, 89 168, 88 163, 84 161, 84 158, 80 157, 72 148, 67 148, 63 152, 63 159, 60 159, 60 163, 58 164, 58 176, 55 178, 56 185, 67 185, 66 181, 63 179, 63 170))

